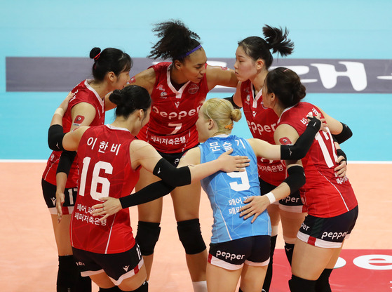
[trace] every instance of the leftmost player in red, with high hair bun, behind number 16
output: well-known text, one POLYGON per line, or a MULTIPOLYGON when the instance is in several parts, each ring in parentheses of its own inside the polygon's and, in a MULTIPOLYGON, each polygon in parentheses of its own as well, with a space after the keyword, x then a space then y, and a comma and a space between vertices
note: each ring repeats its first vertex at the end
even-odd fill
MULTIPOLYGON (((102 52, 100 48, 93 48, 90 51, 90 58, 94 59, 94 79, 81 81, 72 89, 74 96, 69 102, 68 110, 62 121, 65 132, 71 131, 77 126, 104 124, 105 110, 110 110, 113 107, 111 102, 104 101, 104 96, 114 89, 123 88, 129 80, 132 60, 127 53, 116 48, 106 48, 102 52)), ((53 151, 42 175, 43 197, 51 214, 58 246, 58 292, 91 291, 90 279, 80 277, 79 269, 72 257, 72 247, 69 241, 69 222, 76 200, 79 178, 76 161, 72 163, 75 154, 53 151), (64 201, 63 208, 60 210, 63 214, 61 221, 59 221, 60 217, 56 211, 56 201, 59 203, 64 201)))

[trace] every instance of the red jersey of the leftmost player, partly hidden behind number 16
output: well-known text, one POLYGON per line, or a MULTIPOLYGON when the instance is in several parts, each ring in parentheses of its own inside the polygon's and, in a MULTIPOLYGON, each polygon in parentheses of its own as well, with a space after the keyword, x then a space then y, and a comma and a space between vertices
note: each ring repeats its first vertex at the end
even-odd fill
MULTIPOLYGON (((104 124, 104 100, 100 98, 100 95, 88 84, 88 80, 81 81, 74 89, 72 89, 74 97, 69 100, 68 109, 62 118, 62 128, 64 133, 69 132, 72 126, 71 110, 74 105, 80 102, 87 102, 93 105, 95 108, 95 117, 91 122, 90 126, 100 126, 104 124)), ((81 120, 80 122, 82 122, 81 120)), ((43 171, 42 178, 52 185, 56 185, 56 171, 58 168, 58 161, 60 159, 61 151, 53 151, 50 154, 48 162, 46 164, 45 171, 43 171)), ((75 157, 74 163, 69 171, 67 184, 65 187, 77 187, 77 182, 79 178, 79 171, 77 167, 77 155, 75 157)))

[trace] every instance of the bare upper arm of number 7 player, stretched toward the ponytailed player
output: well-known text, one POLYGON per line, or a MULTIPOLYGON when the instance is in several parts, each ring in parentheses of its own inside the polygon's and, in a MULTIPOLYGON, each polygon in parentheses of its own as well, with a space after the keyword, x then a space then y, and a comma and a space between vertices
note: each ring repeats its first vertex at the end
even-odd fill
POLYGON ((205 74, 207 74, 208 90, 217 85, 236 87, 238 84, 234 70, 227 67, 207 65, 205 74))

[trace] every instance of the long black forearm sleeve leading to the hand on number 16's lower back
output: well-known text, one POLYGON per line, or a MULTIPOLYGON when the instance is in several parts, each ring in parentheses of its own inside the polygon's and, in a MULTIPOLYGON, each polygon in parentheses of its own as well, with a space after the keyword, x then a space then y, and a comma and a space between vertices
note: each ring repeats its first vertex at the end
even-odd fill
POLYGON ((142 190, 135 192, 134 194, 120 198, 120 203, 123 208, 144 204, 163 197, 174 189, 175 187, 164 183, 162 180, 159 180, 156 183, 147 185, 147 187, 143 187, 142 190))

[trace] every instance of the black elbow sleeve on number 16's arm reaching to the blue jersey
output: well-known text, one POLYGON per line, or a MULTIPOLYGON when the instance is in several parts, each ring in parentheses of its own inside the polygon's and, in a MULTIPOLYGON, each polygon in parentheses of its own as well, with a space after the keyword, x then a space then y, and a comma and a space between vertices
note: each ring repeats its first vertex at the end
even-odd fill
POLYGON ((176 168, 164 158, 158 161, 152 173, 158 176, 158 178, 161 178, 165 183, 175 187, 189 185, 192 180, 191 171, 188 166, 176 168))

